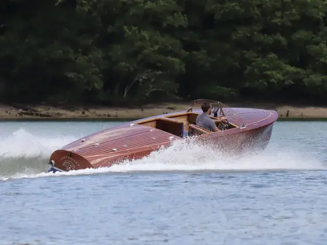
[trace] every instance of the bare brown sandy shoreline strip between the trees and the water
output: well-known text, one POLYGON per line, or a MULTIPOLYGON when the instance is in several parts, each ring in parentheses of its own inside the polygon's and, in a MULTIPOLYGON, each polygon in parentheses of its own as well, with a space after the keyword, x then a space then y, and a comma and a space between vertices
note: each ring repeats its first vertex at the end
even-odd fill
MULTIPOLYGON (((226 103, 229 107, 247 107, 278 112, 278 120, 326 120, 327 107, 276 105, 272 103, 226 103)), ((142 108, 77 106, 71 108, 47 105, 0 105, 4 120, 131 120, 186 111, 190 103, 148 104, 142 108)))

